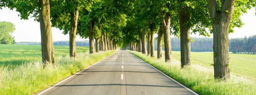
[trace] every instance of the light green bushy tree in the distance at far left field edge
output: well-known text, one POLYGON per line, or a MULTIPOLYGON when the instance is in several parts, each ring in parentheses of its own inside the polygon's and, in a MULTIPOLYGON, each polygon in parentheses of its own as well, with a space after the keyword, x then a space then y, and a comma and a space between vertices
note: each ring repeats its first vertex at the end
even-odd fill
POLYGON ((0 44, 15 44, 12 33, 15 30, 15 25, 11 22, 0 22, 0 44))

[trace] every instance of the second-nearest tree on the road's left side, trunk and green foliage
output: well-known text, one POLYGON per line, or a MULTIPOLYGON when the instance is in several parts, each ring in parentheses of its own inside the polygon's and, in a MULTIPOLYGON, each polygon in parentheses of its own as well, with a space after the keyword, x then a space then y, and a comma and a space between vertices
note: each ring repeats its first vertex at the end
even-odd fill
POLYGON ((69 33, 69 55, 76 57, 75 38, 77 35, 78 14, 81 9, 90 10, 91 5, 98 0, 53 0, 51 1, 51 21, 54 27, 69 33))

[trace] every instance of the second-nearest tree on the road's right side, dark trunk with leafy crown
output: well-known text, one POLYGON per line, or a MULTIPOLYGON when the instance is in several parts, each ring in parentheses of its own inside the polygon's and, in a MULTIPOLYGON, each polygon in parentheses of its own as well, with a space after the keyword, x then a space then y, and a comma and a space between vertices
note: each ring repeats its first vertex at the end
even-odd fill
POLYGON ((205 28, 210 28, 210 16, 207 14, 207 4, 203 0, 180 0, 179 2, 179 31, 181 41, 181 67, 191 64, 190 29, 192 33, 210 36, 205 28))

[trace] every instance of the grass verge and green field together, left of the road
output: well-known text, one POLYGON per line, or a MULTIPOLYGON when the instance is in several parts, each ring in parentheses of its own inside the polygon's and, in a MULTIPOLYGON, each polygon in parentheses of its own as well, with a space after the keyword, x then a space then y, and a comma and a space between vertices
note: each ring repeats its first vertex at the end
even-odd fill
POLYGON ((56 67, 42 67, 40 45, 0 44, 0 95, 31 95, 104 59, 117 50, 89 54, 77 47, 77 57, 69 57, 69 46, 54 46, 56 67))

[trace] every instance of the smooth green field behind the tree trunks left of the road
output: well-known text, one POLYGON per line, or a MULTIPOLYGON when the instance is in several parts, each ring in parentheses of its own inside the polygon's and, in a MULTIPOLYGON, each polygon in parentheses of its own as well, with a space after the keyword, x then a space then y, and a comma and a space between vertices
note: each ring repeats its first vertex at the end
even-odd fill
MULTIPOLYGON (((13 67, 24 62, 41 61, 40 45, 5 45, 0 44, 0 67, 13 67)), ((77 47, 77 54, 89 50, 88 47, 77 47)), ((54 46, 56 61, 58 57, 69 55, 69 46, 54 46)))

